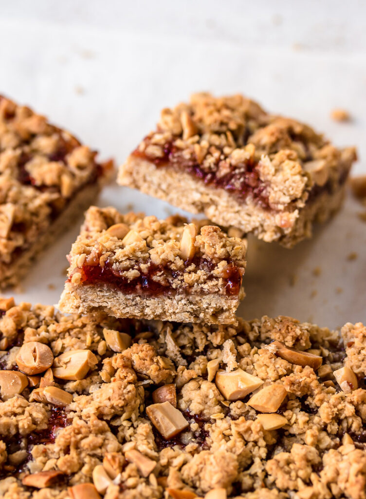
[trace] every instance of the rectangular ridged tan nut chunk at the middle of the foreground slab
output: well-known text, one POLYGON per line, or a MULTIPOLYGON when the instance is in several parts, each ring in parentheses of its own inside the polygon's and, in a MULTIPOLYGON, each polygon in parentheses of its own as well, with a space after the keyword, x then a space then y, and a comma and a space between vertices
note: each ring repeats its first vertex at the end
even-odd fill
POLYGON ((146 414, 166 440, 175 437, 189 426, 181 411, 173 407, 170 402, 148 406, 146 414))

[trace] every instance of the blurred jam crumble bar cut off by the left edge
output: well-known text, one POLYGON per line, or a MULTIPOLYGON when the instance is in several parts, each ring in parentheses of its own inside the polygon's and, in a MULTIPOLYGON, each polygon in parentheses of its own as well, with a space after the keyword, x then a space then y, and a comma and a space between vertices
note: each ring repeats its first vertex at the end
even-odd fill
POLYGON ((0 95, 0 287, 92 201, 112 163, 44 116, 0 95))

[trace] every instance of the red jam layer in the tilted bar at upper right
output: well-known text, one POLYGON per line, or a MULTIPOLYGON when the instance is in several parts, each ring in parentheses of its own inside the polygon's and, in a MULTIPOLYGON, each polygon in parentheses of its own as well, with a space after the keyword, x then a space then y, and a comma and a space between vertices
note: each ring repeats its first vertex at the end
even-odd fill
MULTIPOLYGON (((148 142, 149 138, 145 138, 145 141, 148 142)), ((219 174, 219 171, 220 166, 223 166, 223 160, 218 158, 213 167, 210 170, 206 170, 202 168, 198 163, 197 158, 194 156, 185 158, 181 150, 172 142, 168 142, 164 145, 164 154, 159 158, 149 156, 138 149, 132 154, 146 159, 158 167, 167 166, 169 163, 169 166, 184 170, 209 186, 224 189, 240 200, 244 200, 248 194, 251 194, 253 199, 263 208, 270 208, 268 196, 266 194, 266 185, 259 178, 257 163, 251 159, 248 159, 235 167, 224 165, 225 171, 227 168, 227 172, 221 175, 219 174)))

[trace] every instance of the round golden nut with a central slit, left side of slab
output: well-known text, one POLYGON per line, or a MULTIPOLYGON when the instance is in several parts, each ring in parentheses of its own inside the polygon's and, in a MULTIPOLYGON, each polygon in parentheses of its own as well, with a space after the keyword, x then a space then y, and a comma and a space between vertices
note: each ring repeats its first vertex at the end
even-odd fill
POLYGON ((39 341, 29 341, 23 343, 15 361, 20 371, 32 376, 51 367, 53 354, 49 346, 39 343, 39 341))

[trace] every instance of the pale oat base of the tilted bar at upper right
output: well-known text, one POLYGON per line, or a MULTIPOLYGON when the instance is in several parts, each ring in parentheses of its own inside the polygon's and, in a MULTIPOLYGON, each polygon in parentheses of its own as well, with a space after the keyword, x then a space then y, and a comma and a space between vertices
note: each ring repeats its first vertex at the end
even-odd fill
POLYGON ((328 220, 340 208, 345 192, 343 184, 335 193, 319 194, 301 209, 265 210, 250 196, 239 202, 224 189, 209 187, 188 173, 169 166, 156 167, 154 163, 132 155, 121 167, 118 183, 191 213, 204 213, 223 227, 237 227, 263 241, 278 241, 287 248, 310 238, 313 223, 328 220))

